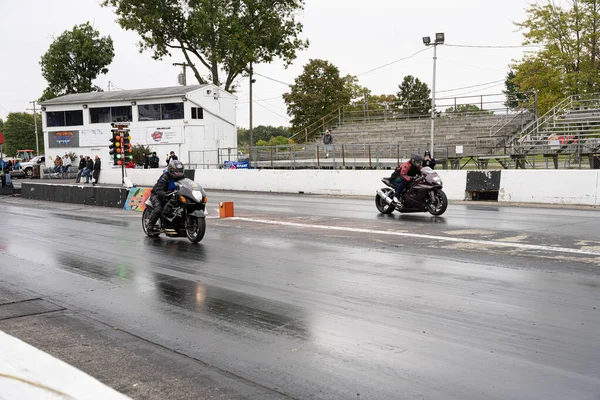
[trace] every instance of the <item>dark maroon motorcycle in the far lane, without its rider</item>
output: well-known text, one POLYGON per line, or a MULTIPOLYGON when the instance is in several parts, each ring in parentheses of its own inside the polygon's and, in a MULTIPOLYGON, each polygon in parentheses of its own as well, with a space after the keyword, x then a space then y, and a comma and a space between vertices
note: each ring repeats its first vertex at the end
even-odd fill
POLYGON ((448 198, 442 190, 442 179, 431 168, 421 170, 421 176, 411 183, 400 202, 393 200, 396 194, 389 178, 381 180, 388 187, 377 189, 375 206, 382 214, 429 212, 431 215, 442 215, 448 207, 448 198))

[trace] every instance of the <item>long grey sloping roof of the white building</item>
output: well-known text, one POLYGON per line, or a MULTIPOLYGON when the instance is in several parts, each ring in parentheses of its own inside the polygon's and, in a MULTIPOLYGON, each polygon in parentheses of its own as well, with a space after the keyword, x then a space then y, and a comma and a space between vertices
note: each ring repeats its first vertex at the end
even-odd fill
POLYGON ((152 89, 115 90, 112 92, 67 94, 65 96, 60 96, 55 99, 43 101, 41 105, 54 106, 63 104, 105 103, 113 101, 146 100, 159 97, 176 97, 184 96, 189 92, 193 92, 194 90, 198 90, 205 86, 208 86, 208 84, 192 86, 172 86, 152 89))

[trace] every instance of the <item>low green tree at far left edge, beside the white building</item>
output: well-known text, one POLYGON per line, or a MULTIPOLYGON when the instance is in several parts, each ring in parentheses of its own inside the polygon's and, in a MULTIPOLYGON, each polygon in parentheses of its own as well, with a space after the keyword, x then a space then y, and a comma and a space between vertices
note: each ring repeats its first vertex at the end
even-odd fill
MULTIPOLYGON (((37 114, 38 128, 42 126, 42 117, 37 114)), ((10 113, 2 127, 4 133, 4 153, 14 156, 17 150, 35 149, 35 124, 33 114, 24 112, 10 113)), ((40 152, 43 154, 44 141, 39 140, 40 152)))

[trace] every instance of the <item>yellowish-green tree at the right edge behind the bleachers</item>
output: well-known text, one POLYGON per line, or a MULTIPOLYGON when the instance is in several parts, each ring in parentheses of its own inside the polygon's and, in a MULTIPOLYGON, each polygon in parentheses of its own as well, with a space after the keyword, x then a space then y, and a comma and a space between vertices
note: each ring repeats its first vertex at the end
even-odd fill
POLYGON ((520 92, 537 89, 540 112, 571 94, 600 91, 600 1, 573 0, 568 8, 537 2, 516 25, 524 44, 537 45, 512 68, 520 92))

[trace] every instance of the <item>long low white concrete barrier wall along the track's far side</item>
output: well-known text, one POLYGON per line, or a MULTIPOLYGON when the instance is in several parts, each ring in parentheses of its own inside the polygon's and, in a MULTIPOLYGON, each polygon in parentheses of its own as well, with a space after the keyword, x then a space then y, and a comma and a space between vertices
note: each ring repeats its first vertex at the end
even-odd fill
MULTIPOLYGON (((464 200, 467 175, 478 171, 436 171, 450 200, 464 200)), ((500 202, 600 205, 600 171, 502 170, 498 190, 500 202)), ((162 170, 127 171, 137 186, 152 186, 162 170)), ((371 170, 225 170, 195 171, 196 182, 206 189, 280 193, 371 196, 382 187, 381 178, 390 171, 371 170)), ((121 183, 121 170, 103 170, 101 183, 121 183)))

